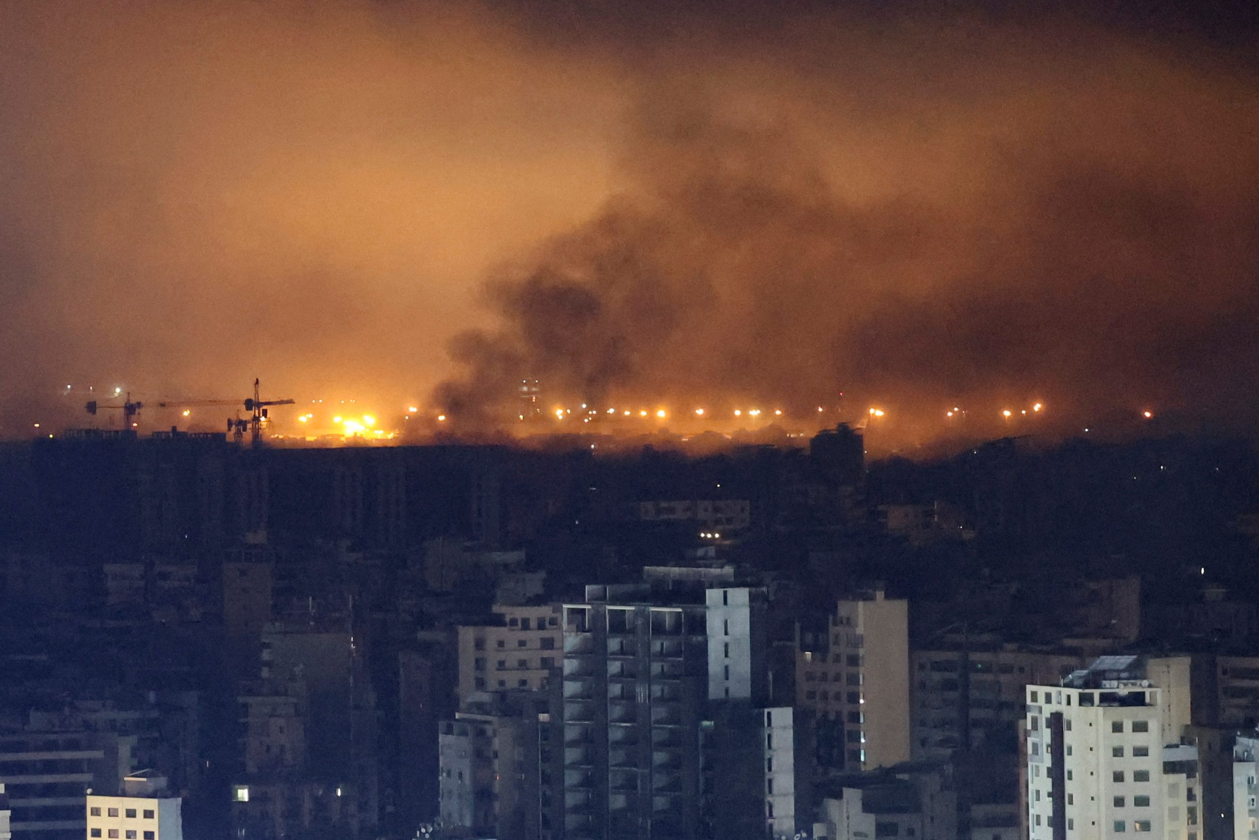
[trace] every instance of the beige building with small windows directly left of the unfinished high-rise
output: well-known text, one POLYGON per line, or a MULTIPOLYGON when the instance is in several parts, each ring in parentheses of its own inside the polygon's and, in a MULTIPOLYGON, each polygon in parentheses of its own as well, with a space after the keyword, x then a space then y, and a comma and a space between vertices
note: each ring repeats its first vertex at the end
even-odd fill
POLYGON ((501 625, 460 627, 460 704, 475 691, 538 690, 559 667, 558 606, 496 606, 501 625))

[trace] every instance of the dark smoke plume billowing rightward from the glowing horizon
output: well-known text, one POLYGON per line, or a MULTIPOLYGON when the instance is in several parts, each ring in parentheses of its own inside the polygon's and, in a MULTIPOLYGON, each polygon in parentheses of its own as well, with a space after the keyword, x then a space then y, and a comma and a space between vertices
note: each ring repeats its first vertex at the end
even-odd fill
POLYGON ((657 79, 632 186, 488 283, 500 325, 453 343, 438 399, 492 416, 521 374, 601 406, 844 390, 918 440, 956 403, 1245 406, 1249 71, 1097 28, 884 34, 823 21, 657 79))

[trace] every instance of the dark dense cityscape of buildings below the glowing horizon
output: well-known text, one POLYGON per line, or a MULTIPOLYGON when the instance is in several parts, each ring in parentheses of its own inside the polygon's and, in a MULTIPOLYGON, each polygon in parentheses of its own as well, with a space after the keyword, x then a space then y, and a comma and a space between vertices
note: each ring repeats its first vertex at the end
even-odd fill
POLYGON ((1245 442, 0 451, 16 840, 1254 830, 1245 442))

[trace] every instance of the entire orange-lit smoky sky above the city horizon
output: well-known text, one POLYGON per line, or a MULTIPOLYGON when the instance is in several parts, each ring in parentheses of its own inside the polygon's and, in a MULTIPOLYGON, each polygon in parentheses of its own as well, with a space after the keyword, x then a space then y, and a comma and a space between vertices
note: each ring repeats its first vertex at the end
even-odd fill
POLYGON ((1259 372, 1259 97, 1224 45, 525 9, 0 13, 0 390, 934 417, 1224 412, 1259 372))

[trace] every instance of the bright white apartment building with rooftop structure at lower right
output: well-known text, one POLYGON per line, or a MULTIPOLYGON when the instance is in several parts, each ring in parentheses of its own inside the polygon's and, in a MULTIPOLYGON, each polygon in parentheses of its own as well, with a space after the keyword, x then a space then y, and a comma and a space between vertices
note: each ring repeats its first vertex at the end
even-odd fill
POLYGON ((1030 840, 1199 840, 1197 751, 1161 743, 1163 709, 1136 656, 1029 685, 1030 840))

